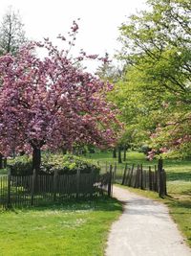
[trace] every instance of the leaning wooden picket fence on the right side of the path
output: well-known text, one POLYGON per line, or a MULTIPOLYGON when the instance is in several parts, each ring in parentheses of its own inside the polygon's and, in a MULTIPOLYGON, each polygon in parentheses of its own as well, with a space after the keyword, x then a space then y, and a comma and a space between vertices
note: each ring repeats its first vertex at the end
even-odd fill
POLYGON ((139 165, 137 168, 135 165, 132 165, 131 168, 128 168, 126 165, 121 184, 158 192, 159 197, 167 195, 166 173, 162 168, 162 160, 159 159, 158 167, 155 166, 154 170, 151 167, 148 170, 144 170, 142 165, 139 165))

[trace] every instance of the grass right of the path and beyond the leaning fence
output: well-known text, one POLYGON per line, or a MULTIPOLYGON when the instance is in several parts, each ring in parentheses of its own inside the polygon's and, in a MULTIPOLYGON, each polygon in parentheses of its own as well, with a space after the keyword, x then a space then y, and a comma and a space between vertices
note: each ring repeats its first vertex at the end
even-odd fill
MULTIPOLYGON (((117 162, 112 158, 112 152, 98 152, 86 156, 94 161, 98 161, 105 172, 106 161, 109 163, 117 162)), ((157 161, 147 161, 143 153, 136 151, 127 152, 126 163, 131 166, 143 164, 143 167, 154 166, 157 161)), ((117 175, 122 176, 125 163, 117 164, 117 175)), ((178 223, 180 231, 191 246, 191 160, 164 160, 164 169, 167 174, 168 197, 160 199, 157 193, 128 188, 129 190, 162 201, 169 207, 170 214, 174 221, 178 223)), ((124 187, 124 186, 123 186, 124 187)), ((125 187, 127 188, 127 187, 125 187)))

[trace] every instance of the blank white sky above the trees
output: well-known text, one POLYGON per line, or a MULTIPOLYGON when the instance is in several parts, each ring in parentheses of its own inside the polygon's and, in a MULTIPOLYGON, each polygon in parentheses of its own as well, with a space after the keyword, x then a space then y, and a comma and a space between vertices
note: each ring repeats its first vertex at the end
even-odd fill
MULTIPOLYGON (((118 47, 118 27, 126 17, 145 8, 145 0, 0 0, 0 20, 8 7, 18 10, 30 39, 66 35, 73 20, 79 33, 75 49, 112 57, 118 47)), ((55 42, 56 43, 56 42, 55 42)))

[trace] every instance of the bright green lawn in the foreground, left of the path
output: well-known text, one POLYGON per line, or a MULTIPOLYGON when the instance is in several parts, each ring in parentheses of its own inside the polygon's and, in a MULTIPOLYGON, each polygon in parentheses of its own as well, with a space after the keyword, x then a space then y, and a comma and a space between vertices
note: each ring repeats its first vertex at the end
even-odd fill
POLYGON ((110 226, 121 211, 116 199, 105 197, 0 212, 0 254, 104 255, 110 226))

